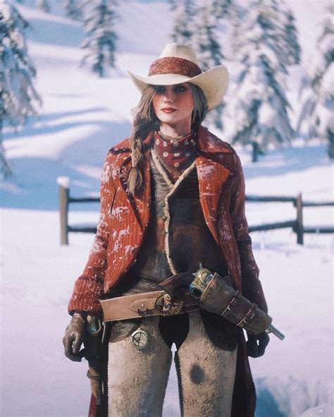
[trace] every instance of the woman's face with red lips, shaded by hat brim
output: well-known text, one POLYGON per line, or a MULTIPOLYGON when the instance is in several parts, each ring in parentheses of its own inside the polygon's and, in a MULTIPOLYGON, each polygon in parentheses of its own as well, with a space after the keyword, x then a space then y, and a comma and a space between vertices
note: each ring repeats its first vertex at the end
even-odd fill
POLYGON ((187 83, 175 85, 154 85, 156 90, 152 105, 156 117, 161 123, 173 128, 190 131, 194 100, 192 90, 187 83))

